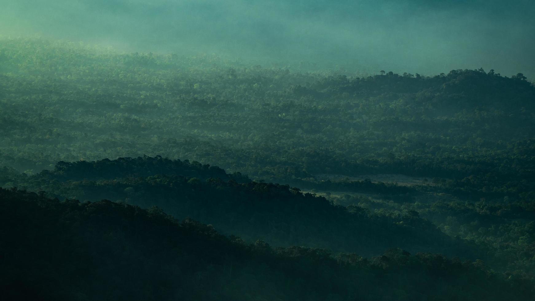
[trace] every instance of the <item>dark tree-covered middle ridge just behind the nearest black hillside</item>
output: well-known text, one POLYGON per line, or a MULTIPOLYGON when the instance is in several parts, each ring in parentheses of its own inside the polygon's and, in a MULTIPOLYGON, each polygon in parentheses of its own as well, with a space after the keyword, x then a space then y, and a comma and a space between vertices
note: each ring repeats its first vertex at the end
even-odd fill
POLYGON ((17 185, 59 199, 156 205, 177 219, 211 223, 248 242, 262 239, 277 246, 305 245, 362 256, 399 247, 482 258, 482 252, 442 233, 417 212, 371 213, 358 206, 336 206, 288 185, 252 182, 240 173, 227 174, 195 161, 139 157, 60 162, 53 171, 26 177, 17 185))

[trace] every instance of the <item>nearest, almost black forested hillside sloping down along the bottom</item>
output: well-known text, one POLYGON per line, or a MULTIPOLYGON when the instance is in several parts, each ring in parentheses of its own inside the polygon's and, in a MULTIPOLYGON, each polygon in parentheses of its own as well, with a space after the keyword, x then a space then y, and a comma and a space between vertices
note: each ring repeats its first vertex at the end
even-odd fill
POLYGON ((429 253, 271 248, 157 208, 0 189, 3 300, 530 300, 533 286, 429 253))

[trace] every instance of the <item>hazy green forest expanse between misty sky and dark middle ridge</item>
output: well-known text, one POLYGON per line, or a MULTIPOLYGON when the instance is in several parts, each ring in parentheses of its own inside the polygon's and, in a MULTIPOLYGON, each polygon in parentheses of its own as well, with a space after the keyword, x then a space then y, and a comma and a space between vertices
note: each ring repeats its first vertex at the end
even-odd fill
POLYGON ((535 182, 535 87, 522 74, 347 78, 39 40, 1 49, 0 163, 21 171, 161 155, 290 184, 370 173, 473 176, 480 190, 535 182))

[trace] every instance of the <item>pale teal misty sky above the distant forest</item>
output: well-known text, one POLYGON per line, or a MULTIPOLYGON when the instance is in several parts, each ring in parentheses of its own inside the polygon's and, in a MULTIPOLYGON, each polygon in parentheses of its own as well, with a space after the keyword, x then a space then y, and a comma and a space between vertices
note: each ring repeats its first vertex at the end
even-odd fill
POLYGON ((0 34, 253 63, 535 78, 535 1, 0 0, 0 34))

